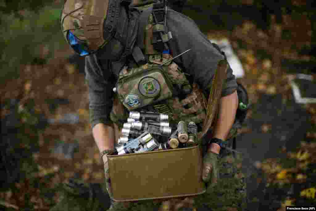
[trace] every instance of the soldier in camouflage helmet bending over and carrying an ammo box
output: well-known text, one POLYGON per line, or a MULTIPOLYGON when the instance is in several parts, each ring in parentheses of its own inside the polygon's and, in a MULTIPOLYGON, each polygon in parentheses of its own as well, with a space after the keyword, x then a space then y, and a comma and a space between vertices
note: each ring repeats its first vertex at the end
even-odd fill
MULTIPOLYGON (((205 99, 217 65, 225 59, 190 18, 166 8, 154 0, 66 0, 62 9, 67 42, 76 53, 86 56, 90 123, 105 164, 110 197, 105 155, 114 148, 129 111, 163 112, 173 122, 193 121, 201 131, 205 99), (161 64, 156 78, 149 77, 150 68, 161 64), (144 79, 135 84, 140 77, 144 79)), ((237 108, 237 83, 228 67, 217 124, 203 157, 202 175, 208 190, 219 180, 219 155, 225 154, 221 146, 226 143, 237 108)), ((236 192, 241 193, 244 189, 236 192)), ((112 203, 110 210, 118 206, 112 203)))

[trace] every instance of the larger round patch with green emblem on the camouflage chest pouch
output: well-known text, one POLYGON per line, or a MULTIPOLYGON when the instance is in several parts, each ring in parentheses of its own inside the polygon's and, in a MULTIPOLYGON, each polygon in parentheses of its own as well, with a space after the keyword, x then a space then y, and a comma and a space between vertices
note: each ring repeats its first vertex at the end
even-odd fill
POLYGON ((140 80, 138 89, 146 97, 155 97, 160 92, 160 84, 155 78, 145 77, 140 80))

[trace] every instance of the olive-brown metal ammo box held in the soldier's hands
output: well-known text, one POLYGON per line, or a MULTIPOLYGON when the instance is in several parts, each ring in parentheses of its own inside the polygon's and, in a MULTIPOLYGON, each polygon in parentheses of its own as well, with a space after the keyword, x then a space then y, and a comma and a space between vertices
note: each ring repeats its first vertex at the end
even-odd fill
POLYGON ((200 146, 107 158, 116 202, 193 196, 206 190, 200 146))

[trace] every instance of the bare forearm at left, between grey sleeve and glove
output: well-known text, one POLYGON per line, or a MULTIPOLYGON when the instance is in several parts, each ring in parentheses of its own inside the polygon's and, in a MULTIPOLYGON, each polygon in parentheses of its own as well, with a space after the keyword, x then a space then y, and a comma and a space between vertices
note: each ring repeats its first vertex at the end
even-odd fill
MULTIPOLYGON (((99 151, 114 149, 115 130, 103 123, 96 124, 92 129, 94 141, 97 144, 99 151)), ((105 158, 106 156, 103 156, 105 158)), ((104 160, 104 159, 103 159, 104 160)))

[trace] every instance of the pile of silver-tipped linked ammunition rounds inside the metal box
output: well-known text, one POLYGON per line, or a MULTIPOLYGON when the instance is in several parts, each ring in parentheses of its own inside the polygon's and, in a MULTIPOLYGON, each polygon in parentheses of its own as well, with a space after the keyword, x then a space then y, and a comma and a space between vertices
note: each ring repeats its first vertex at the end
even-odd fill
POLYGON ((191 147, 196 145, 197 125, 179 121, 177 127, 170 127, 169 116, 155 112, 131 111, 124 123, 122 136, 114 154, 149 152, 191 147))

